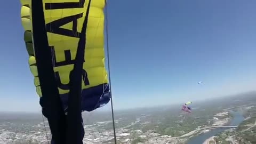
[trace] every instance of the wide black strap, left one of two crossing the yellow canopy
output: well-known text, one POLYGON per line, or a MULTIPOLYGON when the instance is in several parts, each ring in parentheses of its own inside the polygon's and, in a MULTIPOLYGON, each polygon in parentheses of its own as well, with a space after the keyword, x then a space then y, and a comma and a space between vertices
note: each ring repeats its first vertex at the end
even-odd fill
POLYGON ((58 91, 57 83, 54 81, 51 50, 49 47, 45 19, 43 12, 43 1, 31 1, 33 7, 31 19, 33 22, 33 44, 36 55, 37 73, 43 97, 40 98, 40 105, 43 113, 46 114, 52 138, 56 144, 65 143, 63 136, 65 130, 65 115, 58 91))

